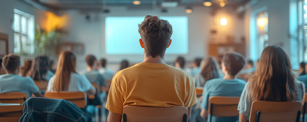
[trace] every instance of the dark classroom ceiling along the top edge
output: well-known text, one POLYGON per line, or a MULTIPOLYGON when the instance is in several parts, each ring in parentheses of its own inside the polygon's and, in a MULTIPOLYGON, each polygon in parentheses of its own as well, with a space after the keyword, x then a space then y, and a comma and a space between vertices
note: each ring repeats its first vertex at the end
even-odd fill
MULTIPOLYGON (((123 6, 128 8, 148 8, 148 7, 161 7, 162 3, 177 2, 178 6, 203 6, 204 0, 138 0, 141 2, 139 5, 133 5, 133 0, 24 0, 36 2, 40 5, 44 5, 53 10, 67 10, 67 9, 93 9, 103 10, 103 8, 111 6, 123 6)), ((214 3, 218 1, 227 1, 227 6, 240 6, 248 2, 248 0, 212 0, 214 3)))

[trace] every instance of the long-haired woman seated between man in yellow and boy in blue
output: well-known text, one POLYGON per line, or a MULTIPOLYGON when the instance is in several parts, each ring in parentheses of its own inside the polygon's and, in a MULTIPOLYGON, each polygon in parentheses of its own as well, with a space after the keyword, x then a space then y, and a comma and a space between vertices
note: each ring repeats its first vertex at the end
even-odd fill
POLYGON ((203 87, 206 81, 219 78, 218 66, 213 57, 202 60, 201 73, 194 77, 196 87, 203 87))

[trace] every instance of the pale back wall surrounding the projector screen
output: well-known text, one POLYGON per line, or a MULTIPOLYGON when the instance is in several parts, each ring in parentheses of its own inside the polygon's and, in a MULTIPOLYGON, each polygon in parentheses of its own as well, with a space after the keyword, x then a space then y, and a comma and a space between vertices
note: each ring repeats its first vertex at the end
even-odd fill
MULTIPOLYGON (((189 28, 189 53, 182 55, 188 62, 195 57, 207 56, 207 44, 209 40, 210 29, 216 29, 216 41, 224 41, 226 35, 233 35, 239 40, 243 34, 243 19, 239 19, 232 8, 225 8, 216 12, 213 16, 211 9, 206 7, 193 7, 192 14, 184 13, 184 7, 169 9, 168 13, 151 10, 127 10, 126 8, 113 7, 110 13, 89 13, 91 20, 86 20, 86 14, 79 11, 66 11, 63 14, 68 15, 69 22, 64 28, 69 34, 64 41, 72 41, 85 44, 85 55, 78 55, 78 68, 80 71, 86 68, 84 59, 86 54, 94 54, 97 58, 106 57, 109 64, 115 71, 118 69, 118 63, 122 59, 128 59, 132 63, 143 61, 144 55, 107 55, 104 50, 104 18, 107 16, 187 16, 189 28), (227 26, 221 26, 219 19, 226 17, 227 26)), ((137 26, 137 25, 136 25, 137 26)), ((177 31, 177 30, 173 30, 177 31)), ((138 40, 135 40, 138 41, 138 40)), ((141 48, 140 48, 141 49, 141 48)), ((166 62, 173 62, 178 55, 165 55, 166 62)), ((187 66, 189 67, 189 66, 187 66)))

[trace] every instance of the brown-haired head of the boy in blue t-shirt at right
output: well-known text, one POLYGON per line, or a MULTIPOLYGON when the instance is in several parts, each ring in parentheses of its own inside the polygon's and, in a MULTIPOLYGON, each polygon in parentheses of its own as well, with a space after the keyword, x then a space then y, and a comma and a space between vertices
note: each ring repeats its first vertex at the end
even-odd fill
POLYGON ((236 76, 245 65, 245 58, 242 54, 229 52, 224 54, 222 62, 231 76, 236 76))

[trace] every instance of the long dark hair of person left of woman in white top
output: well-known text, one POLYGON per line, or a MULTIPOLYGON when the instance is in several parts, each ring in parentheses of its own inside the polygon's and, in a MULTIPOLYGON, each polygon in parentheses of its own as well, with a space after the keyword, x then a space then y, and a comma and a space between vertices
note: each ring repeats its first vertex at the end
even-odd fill
POLYGON ((34 63, 29 72, 29 76, 33 80, 46 80, 44 76, 49 70, 49 58, 47 56, 38 56, 35 58, 34 63))

